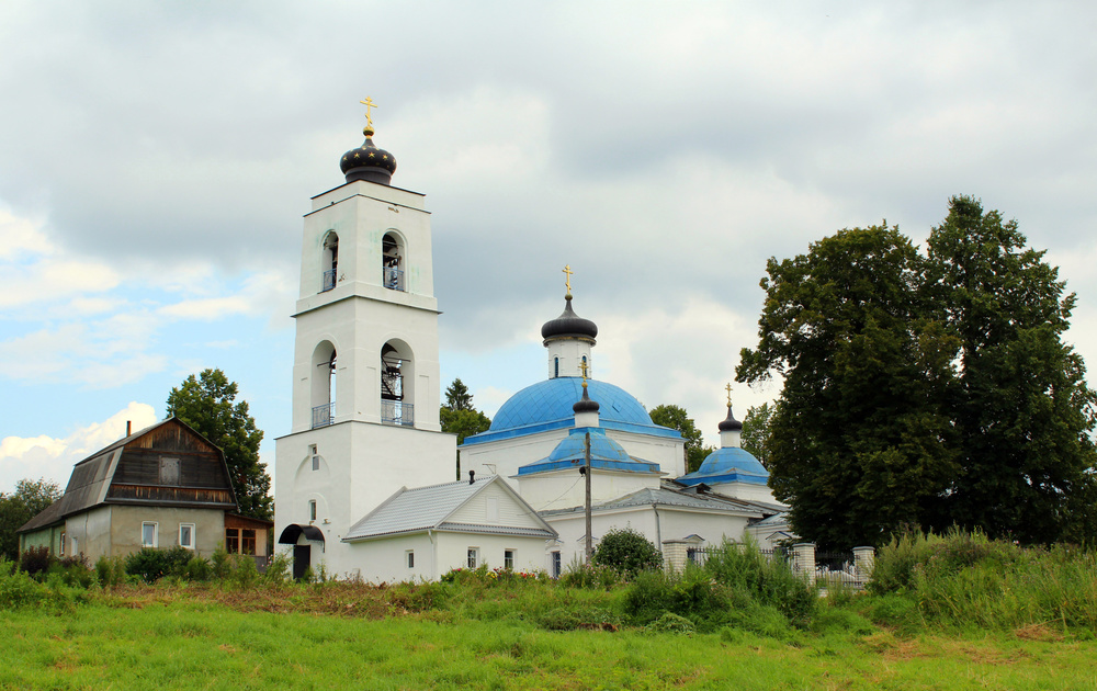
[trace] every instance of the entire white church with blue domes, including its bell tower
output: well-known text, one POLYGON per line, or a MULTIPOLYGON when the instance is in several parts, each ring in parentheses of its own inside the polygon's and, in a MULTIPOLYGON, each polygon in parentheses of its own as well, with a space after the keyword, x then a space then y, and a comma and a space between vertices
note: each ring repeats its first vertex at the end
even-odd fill
MULTIPOLYGON (((367 113, 369 118, 369 113, 367 113)), ((346 183, 305 216, 294 311, 292 430, 276 440, 274 530, 307 568, 373 581, 451 568, 559 570, 584 554, 590 442, 591 533, 631 526, 669 554, 683 545, 784 535, 761 464, 721 422, 721 446, 686 473, 683 440, 636 398, 592 376, 597 326, 563 314, 541 330, 547 377, 514 394, 460 449, 441 431, 438 304, 423 196, 392 186, 373 144, 343 155, 346 183)))

